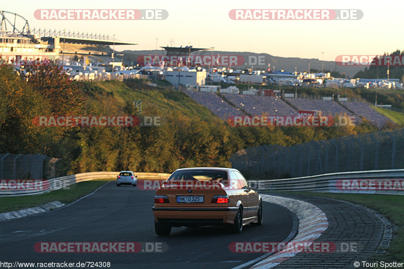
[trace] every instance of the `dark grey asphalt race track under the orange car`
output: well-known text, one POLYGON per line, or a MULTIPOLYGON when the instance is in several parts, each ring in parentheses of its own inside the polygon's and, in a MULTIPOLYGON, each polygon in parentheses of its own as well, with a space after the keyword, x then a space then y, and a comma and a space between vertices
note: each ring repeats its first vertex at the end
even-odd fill
MULTIPOLYGON (((292 232, 293 214, 264 202, 262 226, 173 228, 155 233, 151 208, 155 191, 116 187, 110 182, 94 194, 58 210, 0 223, 0 257, 7 262, 111 262, 109 268, 232 268, 263 253, 233 253, 231 242, 281 242, 292 232), (36 242, 165 242, 163 253, 38 253, 36 242)), ((95 266, 94 266, 95 267, 95 266)), ((99 268, 99 266, 98 266, 99 268)), ((104 267, 101 267, 104 268, 104 267)), ((107 268, 107 267, 105 267, 107 268)))

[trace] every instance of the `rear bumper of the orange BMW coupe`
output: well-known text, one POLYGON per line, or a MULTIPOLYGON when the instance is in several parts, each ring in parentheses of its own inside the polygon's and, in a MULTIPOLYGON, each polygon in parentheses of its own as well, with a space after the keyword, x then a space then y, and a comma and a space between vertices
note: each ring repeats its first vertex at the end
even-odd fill
POLYGON ((233 224, 237 207, 153 207, 156 222, 172 225, 221 225, 233 224))

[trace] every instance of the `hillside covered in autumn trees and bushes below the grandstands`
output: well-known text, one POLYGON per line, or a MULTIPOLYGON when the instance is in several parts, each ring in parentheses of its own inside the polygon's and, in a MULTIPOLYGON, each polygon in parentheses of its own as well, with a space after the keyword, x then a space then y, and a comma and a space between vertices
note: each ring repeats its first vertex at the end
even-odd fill
MULTIPOLYGON (((71 82, 63 74, 35 72, 28 82, 0 68, 0 148, 2 153, 61 158, 59 174, 134 170, 167 172, 180 167, 229 167, 238 149, 289 146, 375 130, 365 125, 339 128, 232 128, 183 92, 154 88, 140 80, 71 82), (53 76, 49 76, 53 74, 53 76), (39 127, 37 116, 140 116, 165 118, 161 127, 39 127)), ((51 72, 52 71, 52 72, 51 72)))

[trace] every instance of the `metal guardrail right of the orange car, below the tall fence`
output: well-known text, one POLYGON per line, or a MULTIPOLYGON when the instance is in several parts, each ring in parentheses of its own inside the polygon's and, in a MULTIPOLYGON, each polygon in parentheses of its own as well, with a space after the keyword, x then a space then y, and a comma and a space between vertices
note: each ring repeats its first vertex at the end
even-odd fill
POLYGON ((404 169, 373 170, 358 172, 343 172, 323 174, 310 177, 275 179, 275 180, 249 180, 250 185, 258 190, 271 191, 314 191, 314 192, 341 192, 341 193, 378 193, 378 194, 404 194, 404 181, 397 181, 393 185, 387 180, 404 179, 404 169), (341 190, 337 188, 338 180, 362 180, 358 187, 341 190), (365 182, 364 180, 368 180, 365 182), (378 183, 389 182, 389 185, 369 184, 369 180, 380 180, 378 183), (362 184, 362 185, 360 185, 362 184), (390 185, 391 184, 391 185, 390 185))

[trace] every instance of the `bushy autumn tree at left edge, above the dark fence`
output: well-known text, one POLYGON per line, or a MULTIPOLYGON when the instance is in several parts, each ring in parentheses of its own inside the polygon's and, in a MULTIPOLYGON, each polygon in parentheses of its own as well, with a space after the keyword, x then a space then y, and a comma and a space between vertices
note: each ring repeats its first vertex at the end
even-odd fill
POLYGON ((33 91, 11 67, 0 67, 0 148, 3 153, 47 154, 54 147, 58 130, 33 124, 51 105, 33 91))

